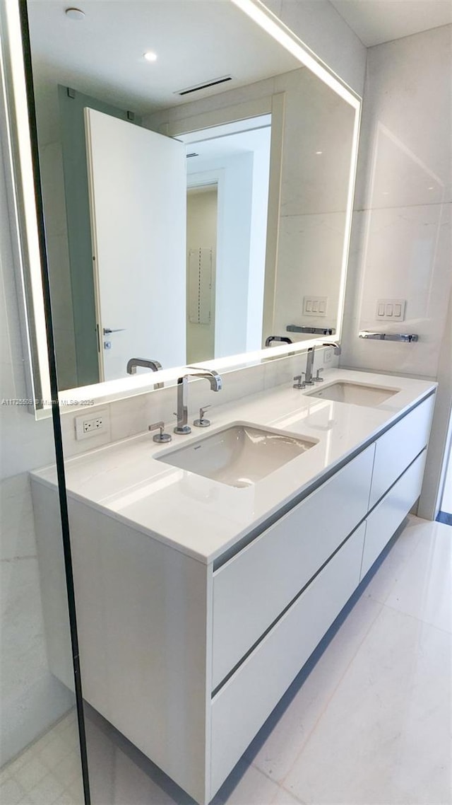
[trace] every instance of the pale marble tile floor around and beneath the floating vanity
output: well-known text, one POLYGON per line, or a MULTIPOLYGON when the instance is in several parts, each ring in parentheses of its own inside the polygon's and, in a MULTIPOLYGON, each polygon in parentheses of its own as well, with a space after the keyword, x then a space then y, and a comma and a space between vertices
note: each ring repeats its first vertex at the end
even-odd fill
MULTIPOLYGON (((450 526, 409 518, 215 805, 452 805, 451 562, 450 526)), ((47 746, 64 721, 52 733, 47 746)), ((89 708, 87 738, 93 805, 192 805, 89 708)), ((76 758, 38 744, 6 768, 0 803, 78 805, 76 758)))

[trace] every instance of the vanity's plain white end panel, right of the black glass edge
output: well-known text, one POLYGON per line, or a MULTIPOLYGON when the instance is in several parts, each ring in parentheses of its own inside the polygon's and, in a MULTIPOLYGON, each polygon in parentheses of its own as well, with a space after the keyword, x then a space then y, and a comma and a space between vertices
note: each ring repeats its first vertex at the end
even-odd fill
POLYGON ((84 698, 206 799, 208 566, 69 500, 84 698))

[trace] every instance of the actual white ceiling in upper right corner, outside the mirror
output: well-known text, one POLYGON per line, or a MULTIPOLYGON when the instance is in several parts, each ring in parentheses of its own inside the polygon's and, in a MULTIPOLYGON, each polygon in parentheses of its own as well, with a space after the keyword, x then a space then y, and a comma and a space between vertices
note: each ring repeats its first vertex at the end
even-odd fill
POLYGON ((330 2, 366 47, 452 23, 452 0, 330 2))

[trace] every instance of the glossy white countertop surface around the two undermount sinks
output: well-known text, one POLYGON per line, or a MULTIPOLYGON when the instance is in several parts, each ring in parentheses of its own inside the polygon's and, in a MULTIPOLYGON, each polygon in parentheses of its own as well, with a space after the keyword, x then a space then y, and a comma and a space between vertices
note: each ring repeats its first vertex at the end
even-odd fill
MULTIPOLYGON (((330 369, 318 387, 347 381, 400 391, 378 407, 336 403, 309 396, 313 388, 277 386, 265 393, 212 407, 212 426, 193 428, 158 445, 146 433, 66 461, 68 497, 209 564, 277 510, 307 493, 322 477, 378 436, 437 386, 435 382, 330 369), (155 460, 229 423, 252 423, 318 440, 256 484, 236 488, 155 460)), ((171 432, 172 428, 167 427, 171 432)), ((31 473, 55 488, 55 466, 31 473)))

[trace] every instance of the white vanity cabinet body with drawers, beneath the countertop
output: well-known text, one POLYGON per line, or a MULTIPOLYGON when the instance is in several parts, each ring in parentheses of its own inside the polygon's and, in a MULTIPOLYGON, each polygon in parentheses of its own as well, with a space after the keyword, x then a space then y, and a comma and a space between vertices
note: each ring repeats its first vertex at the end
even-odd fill
MULTIPOLYGON (((197 802, 216 794, 416 502, 433 406, 431 394, 374 431, 215 563, 69 495, 84 697, 197 802)), ((48 555, 56 491, 37 476, 32 488, 48 555)))

